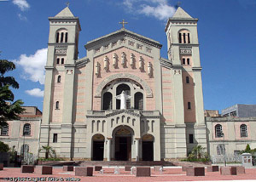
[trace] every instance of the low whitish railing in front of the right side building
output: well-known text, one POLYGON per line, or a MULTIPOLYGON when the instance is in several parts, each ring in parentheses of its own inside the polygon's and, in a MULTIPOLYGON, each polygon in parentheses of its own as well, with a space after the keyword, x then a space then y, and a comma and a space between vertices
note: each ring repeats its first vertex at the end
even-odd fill
MULTIPOLYGON (((211 156, 212 163, 224 163, 223 155, 213 155, 211 156)), ((241 155, 226 155, 225 162, 227 163, 241 163, 241 155)))

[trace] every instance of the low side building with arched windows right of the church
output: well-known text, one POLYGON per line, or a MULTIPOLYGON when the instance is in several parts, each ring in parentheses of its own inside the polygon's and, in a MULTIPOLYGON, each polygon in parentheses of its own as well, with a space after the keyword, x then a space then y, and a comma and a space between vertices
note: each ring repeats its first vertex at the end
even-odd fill
POLYGON ((206 117, 210 156, 236 156, 246 145, 256 148, 256 117, 206 117))

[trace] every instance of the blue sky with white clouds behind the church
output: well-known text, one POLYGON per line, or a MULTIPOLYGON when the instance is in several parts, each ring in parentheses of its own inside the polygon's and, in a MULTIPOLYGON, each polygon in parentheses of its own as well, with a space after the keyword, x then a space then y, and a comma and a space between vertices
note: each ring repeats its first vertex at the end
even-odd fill
MULTIPOLYGON (((13 60, 9 72, 20 83, 15 100, 43 108, 44 64, 49 36, 48 17, 66 7, 67 0, 0 0, 0 59, 13 60)), ((165 26, 177 1, 70 0, 79 17, 79 57, 84 44, 121 28, 160 42, 167 58, 165 26)), ((256 0, 180 0, 198 18, 204 105, 219 110, 235 104, 256 104, 256 0)))

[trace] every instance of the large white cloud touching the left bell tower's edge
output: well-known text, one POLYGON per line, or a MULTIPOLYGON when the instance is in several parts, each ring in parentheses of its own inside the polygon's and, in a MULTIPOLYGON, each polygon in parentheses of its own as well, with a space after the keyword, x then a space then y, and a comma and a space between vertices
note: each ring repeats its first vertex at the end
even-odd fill
POLYGON ((32 55, 21 54, 19 60, 14 60, 14 62, 23 68, 24 73, 22 77, 32 82, 44 84, 44 65, 46 65, 46 60, 47 48, 42 48, 32 55))

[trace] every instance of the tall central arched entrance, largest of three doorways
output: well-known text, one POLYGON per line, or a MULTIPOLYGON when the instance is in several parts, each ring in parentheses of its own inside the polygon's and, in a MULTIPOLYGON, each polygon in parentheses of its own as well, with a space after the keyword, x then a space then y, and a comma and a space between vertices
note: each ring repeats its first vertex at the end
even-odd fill
POLYGON ((122 126, 113 131, 115 139, 114 158, 115 161, 131 161, 131 128, 122 126))

